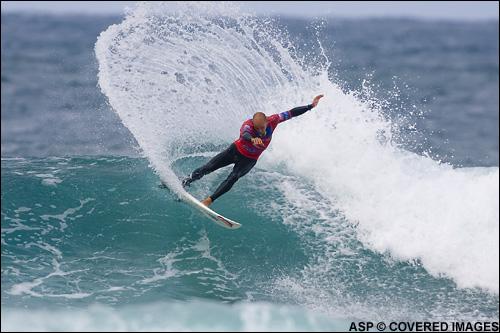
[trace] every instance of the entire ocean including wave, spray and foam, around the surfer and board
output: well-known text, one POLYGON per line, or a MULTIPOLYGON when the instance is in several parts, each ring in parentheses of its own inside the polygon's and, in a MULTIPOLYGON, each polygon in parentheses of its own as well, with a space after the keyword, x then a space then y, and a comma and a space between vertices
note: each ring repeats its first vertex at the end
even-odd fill
POLYGON ((143 3, 2 14, 1 43, 2 330, 498 321, 498 21, 143 3), (214 203, 241 229, 177 200, 317 93, 214 203))

